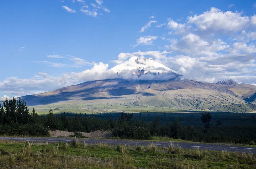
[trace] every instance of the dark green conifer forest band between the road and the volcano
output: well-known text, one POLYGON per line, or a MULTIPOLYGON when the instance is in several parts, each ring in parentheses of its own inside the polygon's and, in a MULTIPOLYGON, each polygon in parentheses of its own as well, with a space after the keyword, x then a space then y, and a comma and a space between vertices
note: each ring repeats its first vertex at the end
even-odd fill
MULTIPOLYGON (((0 135, 8 136, 49 136, 49 130, 64 130, 73 132, 92 132, 96 130, 112 131, 113 137, 130 139, 150 139, 151 136, 166 136, 174 139, 208 142, 208 143, 256 143, 256 119, 251 115, 251 124, 222 125, 221 121, 211 124, 212 113, 201 113, 201 125, 182 125, 178 118, 160 122, 158 116, 152 121, 144 121, 134 117, 133 113, 121 112, 107 118, 86 113, 61 113, 55 115, 50 109, 46 115, 38 115, 31 111, 26 101, 6 99, 0 105, 0 135)), ((141 113, 139 113, 139 116, 141 113)), ((79 136, 79 134, 77 134, 79 136)))

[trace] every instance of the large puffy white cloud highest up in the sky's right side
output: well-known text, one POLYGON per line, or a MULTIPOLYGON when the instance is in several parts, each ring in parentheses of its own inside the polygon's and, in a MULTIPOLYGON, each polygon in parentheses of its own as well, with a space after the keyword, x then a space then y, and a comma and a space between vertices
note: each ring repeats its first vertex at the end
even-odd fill
POLYGON ((241 31, 249 26, 249 17, 231 11, 222 12, 211 8, 201 15, 190 16, 189 23, 195 24, 201 31, 241 31))

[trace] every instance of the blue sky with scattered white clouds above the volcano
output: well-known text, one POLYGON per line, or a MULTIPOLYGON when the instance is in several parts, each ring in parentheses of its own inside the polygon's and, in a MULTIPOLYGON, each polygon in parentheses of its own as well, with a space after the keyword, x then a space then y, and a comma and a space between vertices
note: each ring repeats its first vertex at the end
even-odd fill
POLYGON ((1 1, 0 100, 104 79, 134 55, 256 84, 255 13, 254 1, 1 1))

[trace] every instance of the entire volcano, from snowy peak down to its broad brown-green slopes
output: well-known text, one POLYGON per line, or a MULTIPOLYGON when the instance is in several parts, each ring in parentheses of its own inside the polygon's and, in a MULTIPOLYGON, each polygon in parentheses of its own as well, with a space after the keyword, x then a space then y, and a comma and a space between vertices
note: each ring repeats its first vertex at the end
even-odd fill
POLYGON ((113 79, 88 81, 23 98, 28 105, 59 112, 223 111, 254 112, 256 86, 181 80, 176 71, 132 57, 109 69, 113 79))

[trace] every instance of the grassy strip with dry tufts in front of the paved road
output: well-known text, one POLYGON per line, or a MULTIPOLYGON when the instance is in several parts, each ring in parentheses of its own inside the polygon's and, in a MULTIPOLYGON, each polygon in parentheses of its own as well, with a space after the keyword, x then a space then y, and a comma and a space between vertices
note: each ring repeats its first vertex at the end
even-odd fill
POLYGON ((0 141, 0 168, 256 168, 252 153, 104 143, 0 141))

